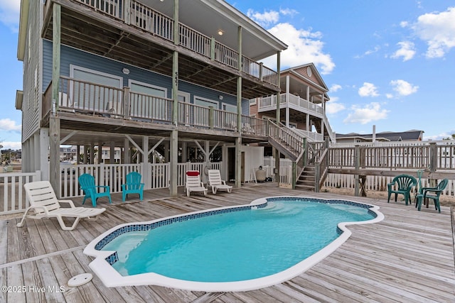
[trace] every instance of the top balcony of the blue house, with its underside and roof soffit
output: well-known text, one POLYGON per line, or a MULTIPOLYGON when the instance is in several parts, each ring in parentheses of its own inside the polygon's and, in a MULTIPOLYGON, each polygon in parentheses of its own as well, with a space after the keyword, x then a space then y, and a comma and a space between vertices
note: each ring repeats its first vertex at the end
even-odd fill
POLYGON ((180 1, 176 24, 173 1, 48 0, 42 35, 49 40, 54 4, 61 6, 62 44, 171 77, 178 51, 178 79, 237 94, 240 76, 245 98, 279 91, 277 72, 255 60, 286 45, 225 1, 180 1))

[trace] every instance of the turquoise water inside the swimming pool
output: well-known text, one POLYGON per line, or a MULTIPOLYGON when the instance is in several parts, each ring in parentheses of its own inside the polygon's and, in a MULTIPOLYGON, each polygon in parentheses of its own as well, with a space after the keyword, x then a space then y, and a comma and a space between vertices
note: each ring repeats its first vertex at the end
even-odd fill
POLYGON ((335 240, 340 222, 373 219, 367 208, 304 199, 274 200, 262 209, 178 221, 117 236, 123 276, 144 272, 197 282, 232 282, 281 272, 335 240))

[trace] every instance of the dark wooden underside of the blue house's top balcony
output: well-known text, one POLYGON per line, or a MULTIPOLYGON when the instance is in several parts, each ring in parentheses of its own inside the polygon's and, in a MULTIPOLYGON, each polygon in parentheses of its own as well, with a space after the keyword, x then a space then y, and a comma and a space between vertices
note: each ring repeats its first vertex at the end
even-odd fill
MULTIPOLYGON (((193 1, 183 2, 193 4, 193 1)), ((272 84, 261 82, 102 13, 94 13, 82 4, 72 1, 61 1, 61 4, 60 39, 63 45, 169 77, 172 76, 173 51, 178 50, 178 77, 183 81, 237 95, 237 77, 242 75, 243 98, 267 96, 277 91, 272 84)), ((52 10, 45 17, 43 38, 53 39, 52 10)))

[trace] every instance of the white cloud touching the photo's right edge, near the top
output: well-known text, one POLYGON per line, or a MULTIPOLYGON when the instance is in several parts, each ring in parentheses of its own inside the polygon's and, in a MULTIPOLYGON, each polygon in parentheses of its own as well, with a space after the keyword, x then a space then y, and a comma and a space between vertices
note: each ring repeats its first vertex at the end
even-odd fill
POLYGON ((444 57, 455 47, 455 7, 443 12, 425 13, 411 28, 417 37, 427 43, 427 57, 444 57))

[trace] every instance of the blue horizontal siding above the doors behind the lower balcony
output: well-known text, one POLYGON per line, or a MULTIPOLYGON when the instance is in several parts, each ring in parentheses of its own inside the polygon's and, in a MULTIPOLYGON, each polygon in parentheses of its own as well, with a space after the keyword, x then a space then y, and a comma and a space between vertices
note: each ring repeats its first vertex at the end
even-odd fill
MULTIPOLYGON (((97 70, 105 72, 110 75, 115 75, 123 78, 123 85, 128 86, 129 79, 134 79, 140 82, 149 83, 158 87, 166 87, 168 92, 168 98, 172 97, 172 79, 164 75, 157 74, 155 72, 149 72, 132 65, 127 65, 122 62, 107 59, 90 53, 85 53, 75 48, 62 45, 60 53, 60 75, 70 77, 70 65, 77 65, 80 67, 89 68, 90 70, 97 70), (129 70, 129 75, 124 75, 122 69, 126 67, 129 70)), ((52 42, 49 40, 43 40, 43 92, 48 87, 52 80, 52 42)), ((191 103, 193 97, 203 97, 218 101, 220 104, 232 104, 235 105, 237 97, 218 92, 213 89, 200 87, 195 84, 180 81, 178 83, 178 90, 181 92, 190 93, 191 103), (223 101, 220 101, 219 96, 223 96, 223 101)), ((242 99, 242 114, 250 114, 250 101, 242 99)))

